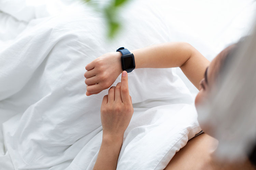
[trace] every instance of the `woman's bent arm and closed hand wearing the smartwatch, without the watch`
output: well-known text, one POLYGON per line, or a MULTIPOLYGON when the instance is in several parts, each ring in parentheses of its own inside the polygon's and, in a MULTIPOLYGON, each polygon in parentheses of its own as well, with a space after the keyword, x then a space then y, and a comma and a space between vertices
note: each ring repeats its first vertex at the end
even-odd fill
MULTIPOLYGON (((187 78, 199 88, 209 61, 188 43, 162 43, 131 51, 136 68, 180 67, 187 78)), ((103 54, 89 63, 84 76, 86 95, 98 94, 109 88, 122 72, 120 52, 103 54)))

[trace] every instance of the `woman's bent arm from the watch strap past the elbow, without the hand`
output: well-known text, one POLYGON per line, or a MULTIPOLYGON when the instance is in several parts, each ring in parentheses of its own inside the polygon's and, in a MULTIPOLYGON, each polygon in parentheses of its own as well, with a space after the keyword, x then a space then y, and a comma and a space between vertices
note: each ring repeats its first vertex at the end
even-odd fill
POLYGON ((134 54, 136 68, 180 67, 197 88, 210 64, 193 46, 183 42, 162 43, 131 52, 134 54))

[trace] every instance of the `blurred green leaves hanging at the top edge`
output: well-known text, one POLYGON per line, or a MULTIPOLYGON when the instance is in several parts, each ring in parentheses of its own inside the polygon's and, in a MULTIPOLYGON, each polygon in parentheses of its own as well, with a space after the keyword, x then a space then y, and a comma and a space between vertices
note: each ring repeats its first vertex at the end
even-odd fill
POLYGON ((95 0, 84 1, 91 4, 96 11, 103 13, 108 24, 108 37, 111 39, 114 38, 121 27, 120 21, 117 18, 119 16, 118 9, 121 6, 124 6, 124 4, 130 0, 110 0, 110 2, 103 7, 103 9, 100 8, 100 5, 95 0))

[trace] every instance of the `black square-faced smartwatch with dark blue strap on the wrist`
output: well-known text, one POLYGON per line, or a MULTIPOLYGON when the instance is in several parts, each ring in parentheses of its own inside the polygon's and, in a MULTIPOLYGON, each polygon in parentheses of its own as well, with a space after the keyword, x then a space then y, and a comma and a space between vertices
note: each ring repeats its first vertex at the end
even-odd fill
POLYGON ((123 71, 132 72, 135 68, 134 55, 124 47, 120 47, 116 52, 120 51, 122 53, 121 63, 123 71))

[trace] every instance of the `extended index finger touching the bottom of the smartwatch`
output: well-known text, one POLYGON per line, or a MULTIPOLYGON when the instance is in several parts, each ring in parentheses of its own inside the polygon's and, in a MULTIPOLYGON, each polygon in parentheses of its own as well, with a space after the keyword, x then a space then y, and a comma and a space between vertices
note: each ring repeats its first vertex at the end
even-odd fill
POLYGON ((128 74, 126 71, 122 72, 122 78, 121 78, 121 98, 123 103, 127 104, 130 102, 130 95, 129 95, 129 89, 128 89, 128 74))

